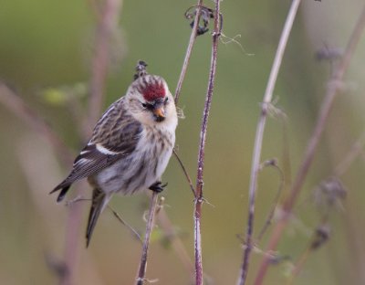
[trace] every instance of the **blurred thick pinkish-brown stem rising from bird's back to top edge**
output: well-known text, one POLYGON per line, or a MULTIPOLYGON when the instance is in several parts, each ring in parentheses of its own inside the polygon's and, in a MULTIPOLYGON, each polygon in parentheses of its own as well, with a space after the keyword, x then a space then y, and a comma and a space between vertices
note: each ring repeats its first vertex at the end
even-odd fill
POLYGON ((102 107, 105 80, 108 74, 110 38, 118 26, 121 0, 104 0, 103 11, 97 27, 95 56, 92 61, 89 125, 92 127, 98 120, 102 107))

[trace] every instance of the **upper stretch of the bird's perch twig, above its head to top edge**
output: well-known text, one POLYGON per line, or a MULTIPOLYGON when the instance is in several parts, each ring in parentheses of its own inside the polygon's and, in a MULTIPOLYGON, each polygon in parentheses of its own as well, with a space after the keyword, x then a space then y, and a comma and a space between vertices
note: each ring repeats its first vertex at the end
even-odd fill
POLYGON ((179 81, 177 82, 177 86, 176 86, 176 90, 175 90, 175 104, 176 105, 179 102, 180 92, 183 87, 183 79, 185 79, 185 73, 186 73, 186 70, 188 69, 189 60, 192 55, 193 45, 195 43, 195 39, 197 36, 197 29, 199 26, 199 18, 200 18, 202 5, 203 5, 203 0, 198 0, 198 3, 196 5, 196 15, 195 15, 195 19, 194 19, 192 34, 190 35, 189 45, 186 49, 185 58, 183 59, 183 68, 182 68, 182 71, 180 72, 179 81))

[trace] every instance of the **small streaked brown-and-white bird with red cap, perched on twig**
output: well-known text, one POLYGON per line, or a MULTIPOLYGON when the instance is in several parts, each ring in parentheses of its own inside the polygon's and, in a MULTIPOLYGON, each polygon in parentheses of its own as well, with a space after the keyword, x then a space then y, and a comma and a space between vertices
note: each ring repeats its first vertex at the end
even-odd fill
POLYGON ((74 182, 88 177, 93 195, 87 247, 113 194, 132 195, 147 189, 161 192, 165 186, 161 177, 172 155, 178 118, 166 81, 147 74, 146 66, 140 61, 126 95, 101 116, 71 173, 51 191, 60 190, 60 202, 74 182))

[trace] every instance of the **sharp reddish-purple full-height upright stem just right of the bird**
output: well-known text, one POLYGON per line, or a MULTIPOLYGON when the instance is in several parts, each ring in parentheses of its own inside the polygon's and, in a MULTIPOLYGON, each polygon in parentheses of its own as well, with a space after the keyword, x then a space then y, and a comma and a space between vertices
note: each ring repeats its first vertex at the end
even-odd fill
POLYGON ((200 144, 198 153, 198 166, 196 174, 195 207, 194 207, 194 253, 195 253, 195 284, 203 284, 203 262, 202 262, 202 240, 201 240, 201 218, 203 206, 203 168, 206 131, 208 126, 209 111, 212 103, 214 78, 217 61, 218 42, 220 37, 220 0, 215 1, 214 11, 214 34, 212 43, 212 58, 209 72, 208 88, 203 110, 202 128, 200 133, 200 144))

